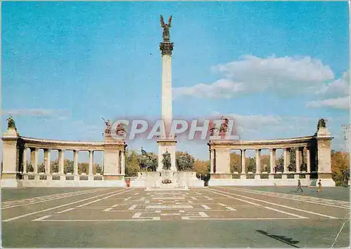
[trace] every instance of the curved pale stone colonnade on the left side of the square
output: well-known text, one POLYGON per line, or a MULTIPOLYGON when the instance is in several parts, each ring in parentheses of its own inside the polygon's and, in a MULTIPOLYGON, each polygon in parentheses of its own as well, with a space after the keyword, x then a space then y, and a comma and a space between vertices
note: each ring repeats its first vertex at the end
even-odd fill
POLYGON ((125 187, 124 140, 105 142, 73 142, 21 137, 8 128, 3 140, 3 187, 125 187), (32 172, 27 171, 27 150, 30 149, 32 172), (44 173, 38 171, 39 149, 44 150, 44 173), (51 172, 51 151, 58 151, 58 173, 51 172), (65 152, 74 152, 73 173, 64 173, 65 152), (89 152, 88 175, 78 173, 79 152, 89 152), (94 152, 102 151, 103 173, 93 175, 94 152), (87 177, 86 177, 87 176, 87 177), (82 179, 83 178, 83 179, 82 179))

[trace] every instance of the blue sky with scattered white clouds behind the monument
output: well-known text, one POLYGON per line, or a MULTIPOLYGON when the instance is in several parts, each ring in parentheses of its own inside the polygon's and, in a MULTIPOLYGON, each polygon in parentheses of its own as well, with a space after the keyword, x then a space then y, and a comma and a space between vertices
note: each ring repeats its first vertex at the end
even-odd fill
MULTIPOLYGON (((325 117, 344 149, 347 2, 3 2, 1 14, 2 132, 8 114, 20 135, 57 140, 103 140, 101 118, 159 119, 161 14, 173 116, 230 117, 241 140, 313 135, 325 117)), ((206 142, 177 149, 206 160, 206 142)))

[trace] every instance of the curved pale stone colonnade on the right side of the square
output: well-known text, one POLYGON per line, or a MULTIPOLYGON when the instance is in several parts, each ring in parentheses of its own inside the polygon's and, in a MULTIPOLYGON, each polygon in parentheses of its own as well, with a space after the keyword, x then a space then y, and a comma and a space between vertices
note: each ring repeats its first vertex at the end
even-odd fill
POLYGON ((335 187, 331 178, 331 134, 325 128, 308 137, 296 137, 280 140, 212 140, 210 148, 211 180, 210 186, 218 185, 296 185, 298 179, 305 185, 316 185, 322 179, 324 186, 335 187), (290 149, 296 149, 296 170, 289 172, 290 149), (241 172, 230 172, 230 150, 241 151, 241 172), (246 150, 256 150, 256 172, 247 172, 245 165, 246 150), (262 172, 260 163, 261 149, 270 149, 270 173, 262 172), (274 173, 276 150, 283 149, 283 172, 274 173), (303 150, 306 158, 303 158, 303 150), (301 171, 302 162, 306 170, 301 171))

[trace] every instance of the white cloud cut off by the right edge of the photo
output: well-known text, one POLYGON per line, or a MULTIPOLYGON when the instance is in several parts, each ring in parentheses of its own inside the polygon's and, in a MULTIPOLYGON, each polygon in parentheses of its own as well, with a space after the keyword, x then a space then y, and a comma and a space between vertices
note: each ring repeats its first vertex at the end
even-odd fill
POLYGON ((317 90, 317 100, 307 102, 308 108, 329 107, 333 109, 350 109, 350 69, 343 77, 322 86, 317 90))

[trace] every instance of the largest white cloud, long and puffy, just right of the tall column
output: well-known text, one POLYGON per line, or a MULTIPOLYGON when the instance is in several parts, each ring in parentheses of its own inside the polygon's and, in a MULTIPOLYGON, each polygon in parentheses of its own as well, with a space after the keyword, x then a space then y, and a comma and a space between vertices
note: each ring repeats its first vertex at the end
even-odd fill
POLYGON ((334 78, 328 65, 320 60, 305 58, 258 58, 245 55, 242 60, 213 67, 222 79, 213 83, 199 83, 190 87, 174 88, 174 97, 223 98, 239 93, 272 92, 308 93, 321 88, 324 81, 334 78))

